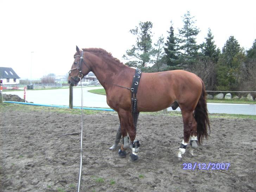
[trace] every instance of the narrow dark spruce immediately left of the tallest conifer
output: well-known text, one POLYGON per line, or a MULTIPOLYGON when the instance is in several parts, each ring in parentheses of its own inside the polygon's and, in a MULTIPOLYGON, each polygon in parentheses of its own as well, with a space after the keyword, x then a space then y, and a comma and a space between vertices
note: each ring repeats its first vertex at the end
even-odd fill
POLYGON ((174 28, 173 23, 171 21, 171 27, 170 31, 167 31, 169 36, 167 37, 166 43, 165 43, 165 57, 166 57, 166 64, 169 66, 175 66, 177 65, 178 60, 178 45, 177 45, 177 37, 174 36, 174 28))

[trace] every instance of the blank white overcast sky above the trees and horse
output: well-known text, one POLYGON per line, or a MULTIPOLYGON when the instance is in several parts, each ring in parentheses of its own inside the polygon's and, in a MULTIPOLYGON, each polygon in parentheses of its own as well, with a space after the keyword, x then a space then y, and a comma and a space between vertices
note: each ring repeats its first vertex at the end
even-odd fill
POLYGON ((166 40, 170 21, 177 33, 186 11, 197 20, 198 43, 211 28, 220 49, 232 35, 247 50, 256 38, 255 7, 255 0, 0 0, 0 66, 21 78, 31 71, 32 79, 65 75, 76 45, 103 48, 125 62, 122 56, 135 44, 130 29, 151 21, 153 41, 161 34, 166 40))

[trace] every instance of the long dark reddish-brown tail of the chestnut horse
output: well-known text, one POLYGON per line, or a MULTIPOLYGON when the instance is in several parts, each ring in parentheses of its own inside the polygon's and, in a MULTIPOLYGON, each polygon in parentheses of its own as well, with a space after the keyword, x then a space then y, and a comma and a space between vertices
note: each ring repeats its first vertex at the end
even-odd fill
POLYGON ((207 127, 209 127, 209 132, 211 133, 208 110, 206 105, 205 85, 203 81, 201 82, 203 85, 203 89, 196 109, 194 110, 194 117, 197 121, 197 139, 199 144, 201 144, 204 137, 206 137, 206 139, 208 137, 207 127))

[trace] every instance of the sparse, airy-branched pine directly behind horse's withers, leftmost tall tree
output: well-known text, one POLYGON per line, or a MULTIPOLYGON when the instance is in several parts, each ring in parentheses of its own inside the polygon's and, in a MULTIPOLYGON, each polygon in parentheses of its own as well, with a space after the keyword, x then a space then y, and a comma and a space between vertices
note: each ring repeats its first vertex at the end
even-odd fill
POLYGON ((126 51, 124 59, 131 59, 135 57, 137 60, 129 61, 127 64, 132 66, 145 67, 145 64, 150 61, 152 51, 152 29, 153 24, 150 21, 140 22, 139 27, 130 30, 130 33, 136 36, 136 44, 132 49, 126 51))

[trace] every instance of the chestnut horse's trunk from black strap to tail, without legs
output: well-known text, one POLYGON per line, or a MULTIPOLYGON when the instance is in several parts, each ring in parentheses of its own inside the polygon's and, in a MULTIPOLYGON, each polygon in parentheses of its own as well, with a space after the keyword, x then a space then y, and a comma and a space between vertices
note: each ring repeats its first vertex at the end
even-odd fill
POLYGON ((184 70, 143 73, 138 89, 140 111, 158 111, 178 103, 197 102, 201 79, 184 70))

